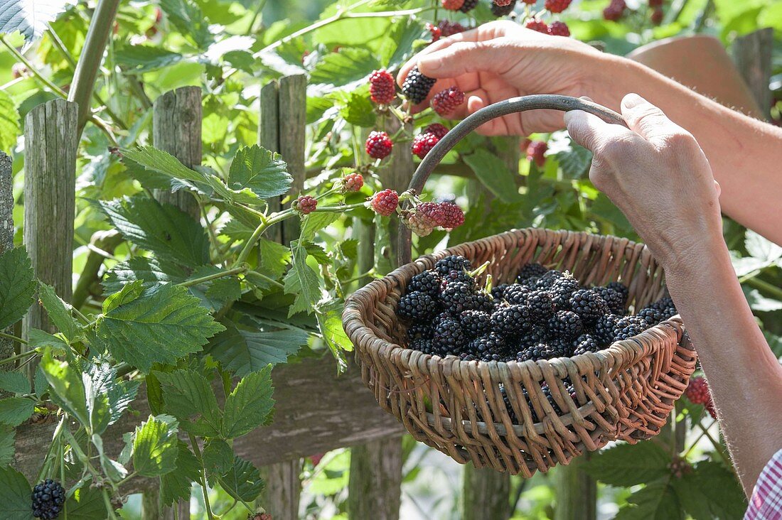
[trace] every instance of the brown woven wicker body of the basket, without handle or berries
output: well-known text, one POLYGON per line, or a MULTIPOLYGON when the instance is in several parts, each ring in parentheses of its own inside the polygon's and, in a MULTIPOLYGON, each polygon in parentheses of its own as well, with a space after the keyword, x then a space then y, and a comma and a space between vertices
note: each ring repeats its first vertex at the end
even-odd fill
POLYGON ((461 244, 371 282, 350 297, 343 323, 364 383, 414 439, 462 464, 529 477, 612 440, 634 443, 660 431, 695 368, 679 317, 607 350, 572 358, 477 362, 404 348, 405 327, 396 317, 400 296, 415 274, 449 254, 465 256, 473 266, 489 261, 481 282, 491 274, 495 285, 512 282, 527 262, 540 262, 571 271, 583 285, 619 279, 629 286, 628 303, 635 308, 665 292, 662 267, 642 244, 543 229, 461 244), (575 399, 564 378, 572 382, 575 399), (543 382, 561 415, 543 395, 543 382), (533 423, 533 411, 539 422, 533 423))

